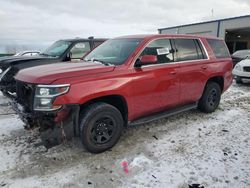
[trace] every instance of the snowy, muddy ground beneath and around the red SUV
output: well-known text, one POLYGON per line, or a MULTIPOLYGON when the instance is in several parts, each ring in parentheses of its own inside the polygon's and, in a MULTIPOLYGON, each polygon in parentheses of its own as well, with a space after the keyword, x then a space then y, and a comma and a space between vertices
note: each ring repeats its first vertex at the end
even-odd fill
POLYGON ((214 113, 192 110, 131 127, 98 155, 78 139, 36 146, 38 133, 0 108, 2 187, 250 187, 250 84, 233 84, 214 113))

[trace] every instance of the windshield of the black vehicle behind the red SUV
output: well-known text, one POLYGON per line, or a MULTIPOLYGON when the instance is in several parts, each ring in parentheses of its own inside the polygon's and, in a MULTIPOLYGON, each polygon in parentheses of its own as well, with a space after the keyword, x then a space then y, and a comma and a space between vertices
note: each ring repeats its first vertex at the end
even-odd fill
POLYGON ((41 55, 59 57, 65 52, 65 50, 67 50, 70 44, 71 42, 68 41, 57 41, 49 48, 47 48, 44 52, 42 52, 41 55))

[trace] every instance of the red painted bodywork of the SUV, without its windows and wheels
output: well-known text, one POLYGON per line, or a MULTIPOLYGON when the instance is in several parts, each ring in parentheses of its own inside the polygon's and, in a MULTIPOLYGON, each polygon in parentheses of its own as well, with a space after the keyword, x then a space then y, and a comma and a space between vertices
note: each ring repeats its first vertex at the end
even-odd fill
POLYGON ((207 80, 212 77, 224 78, 223 91, 232 83, 232 60, 216 59, 207 37, 136 35, 123 38, 143 39, 123 65, 104 66, 86 62, 51 64, 22 70, 16 79, 35 84, 70 84, 69 92, 54 101, 56 105, 84 104, 95 98, 120 95, 127 103, 129 121, 198 101, 207 80), (200 39, 208 59, 134 67, 138 55, 149 42, 183 37, 200 39))

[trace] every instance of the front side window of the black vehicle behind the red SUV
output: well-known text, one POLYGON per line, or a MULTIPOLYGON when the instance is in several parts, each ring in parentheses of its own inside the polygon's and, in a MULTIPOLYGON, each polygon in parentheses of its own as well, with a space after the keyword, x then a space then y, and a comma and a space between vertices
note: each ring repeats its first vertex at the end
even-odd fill
POLYGON ((89 51, 90 51, 89 42, 76 43, 70 50, 71 59, 81 59, 89 51))

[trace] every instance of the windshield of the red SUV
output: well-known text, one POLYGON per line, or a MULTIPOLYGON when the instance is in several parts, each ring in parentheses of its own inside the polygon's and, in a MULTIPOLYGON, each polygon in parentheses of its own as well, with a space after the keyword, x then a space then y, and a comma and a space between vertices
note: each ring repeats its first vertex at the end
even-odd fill
POLYGON ((142 39, 111 39, 88 54, 85 61, 101 61, 115 65, 123 64, 142 39))

